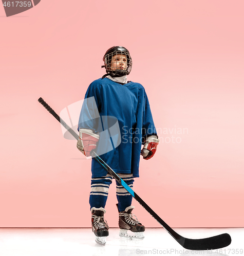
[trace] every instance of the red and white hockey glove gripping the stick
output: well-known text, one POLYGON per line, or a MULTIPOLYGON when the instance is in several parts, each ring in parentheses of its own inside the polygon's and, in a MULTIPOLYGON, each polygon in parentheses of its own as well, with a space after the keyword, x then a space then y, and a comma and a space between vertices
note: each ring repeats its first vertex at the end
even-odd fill
POLYGON ((93 133, 92 130, 80 128, 79 139, 77 141, 77 148, 86 157, 89 157, 90 152, 92 150, 95 150, 98 141, 98 134, 93 133))

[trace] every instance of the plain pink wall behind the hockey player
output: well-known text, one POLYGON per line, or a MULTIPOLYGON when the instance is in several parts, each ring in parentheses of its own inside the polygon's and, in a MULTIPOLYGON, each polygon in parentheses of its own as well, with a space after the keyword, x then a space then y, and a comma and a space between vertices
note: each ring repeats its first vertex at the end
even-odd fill
MULTIPOLYGON (((161 138, 134 190, 172 227, 243 227, 243 8, 243 0, 42 0, 6 17, 1 5, 0 226, 90 227, 90 160, 37 99, 57 113, 83 99, 104 74, 105 51, 122 45, 161 138)), ((112 184, 110 227, 115 204, 112 184)), ((145 226, 160 226, 133 204, 145 226)))

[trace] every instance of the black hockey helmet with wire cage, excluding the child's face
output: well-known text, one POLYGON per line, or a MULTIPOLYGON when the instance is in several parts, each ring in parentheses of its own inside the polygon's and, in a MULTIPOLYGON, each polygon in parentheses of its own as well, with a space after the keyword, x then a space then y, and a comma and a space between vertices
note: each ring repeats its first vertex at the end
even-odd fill
POLYGON ((130 73, 132 70, 132 58, 129 55, 129 51, 124 48, 123 46, 113 46, 109 48, 106 53, 103 56, 104 66, 102 68, 106 69, 107 75, 110 75, 112 77, 119 77, 119 76, 125 76, 130 73), (127 60, 127 65, 125 70, 121 69, 111 69, 111 60, 114 56, 117 56, 119 54, 125 55, 127 60))

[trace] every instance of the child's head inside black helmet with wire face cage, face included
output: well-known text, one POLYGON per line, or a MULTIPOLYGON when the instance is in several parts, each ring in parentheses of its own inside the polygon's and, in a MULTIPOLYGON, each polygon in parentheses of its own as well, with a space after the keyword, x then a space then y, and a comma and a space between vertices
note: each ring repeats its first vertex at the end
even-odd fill
POLYGON ((128 50, 126 50, 124 47, 110 48, 104 55, 103 60, 105 63, 106 72, 112 76, 125 76, 128 75, 132 70, 132 58, 130 57, 128 50), (124 69, 121 69, 121 66, 125 61, 124 58, 126 58, 126 66, 124 69), (112 65, 114 67, 112 67, 112 65))

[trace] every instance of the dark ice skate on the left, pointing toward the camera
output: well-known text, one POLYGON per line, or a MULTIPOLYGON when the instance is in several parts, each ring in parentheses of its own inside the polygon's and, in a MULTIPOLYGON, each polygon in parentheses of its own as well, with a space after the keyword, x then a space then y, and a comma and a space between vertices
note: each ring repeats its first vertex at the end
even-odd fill
POLYGON ((93 233, 95 233, 96 239, 95 241, 98 244, 105 245, 106 237, 108 236, 108 225, 104 220, 105 209, 100 208, 91 208, 91 227, 93 233))

